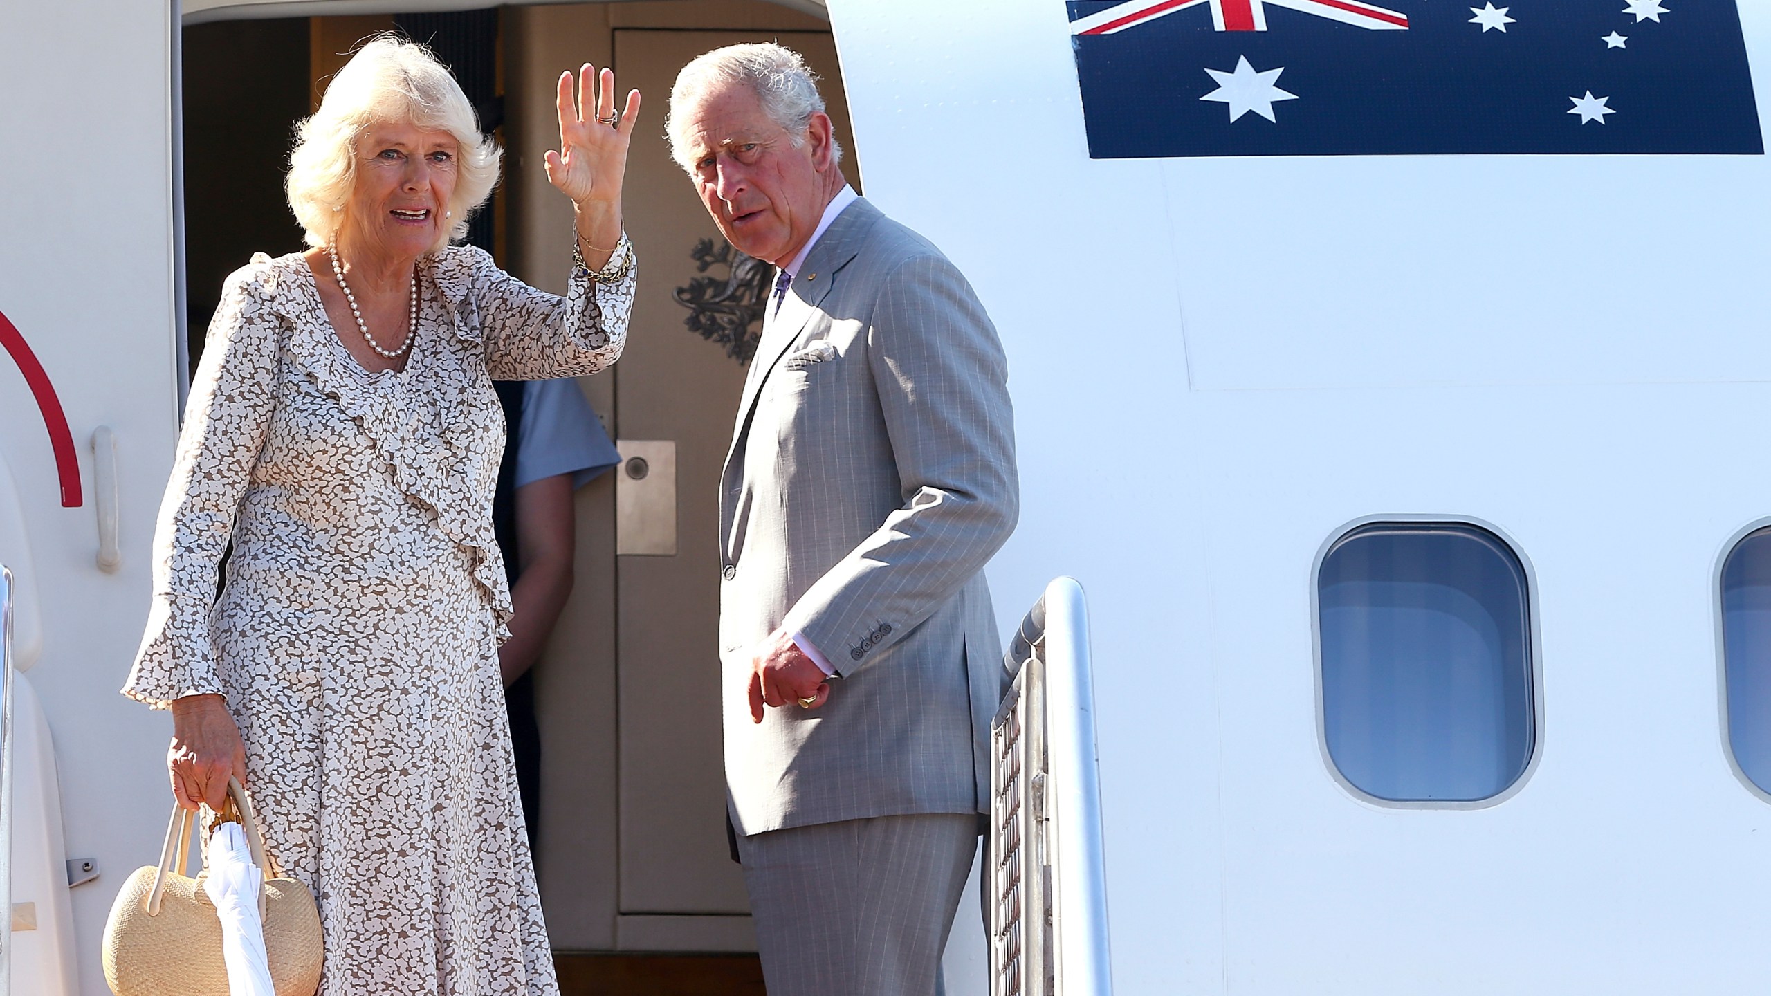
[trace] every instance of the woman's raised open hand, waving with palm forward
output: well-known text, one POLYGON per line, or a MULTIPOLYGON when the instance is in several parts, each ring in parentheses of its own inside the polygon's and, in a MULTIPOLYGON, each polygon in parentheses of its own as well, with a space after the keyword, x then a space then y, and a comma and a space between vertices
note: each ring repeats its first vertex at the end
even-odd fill
MULTIPOLYGON (((622 202, 622 175, 627 172, 627 144, 639 119, 639 90, 627 92, 627 110, 615 115, 615 71, 586 62, 577 71, 560 74, 560 151, 547 152, 547 181, 577 204, 616 207, 622 202), (615 128, 609 128, 609 121, 615 128)), ((590 236, 590 232, 581 234, 590 236)), ((618 234, 618 232, 616 232, 618 234)), ((611 243, 613 246, 613 243, 611 243)))

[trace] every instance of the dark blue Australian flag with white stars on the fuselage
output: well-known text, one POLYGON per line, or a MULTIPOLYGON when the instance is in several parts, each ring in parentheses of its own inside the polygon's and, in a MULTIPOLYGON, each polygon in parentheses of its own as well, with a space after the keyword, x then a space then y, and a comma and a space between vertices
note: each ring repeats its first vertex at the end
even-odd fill
POLYGON ((1764 154, 1734 0, 1473 2, 1068 0, 1089 154, 1764 154))

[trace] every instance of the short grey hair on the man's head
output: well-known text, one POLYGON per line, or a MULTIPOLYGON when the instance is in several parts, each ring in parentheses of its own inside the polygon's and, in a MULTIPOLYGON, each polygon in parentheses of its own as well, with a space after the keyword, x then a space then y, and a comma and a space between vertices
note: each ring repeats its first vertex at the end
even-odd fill
MULTIPOLYGON (((692 174, 694 163, 689 161, 689 138, 678 133, 682 112, 731 83, 744 83, 756 92, 763 113, 793 136, 795 149, 806 144, 811 115, 824 113, 818 74, 792 48, 772 41, 715 48, 684 66, 669 90, 664 133, 669 136, 671 158, 684 170, 692 174)), ((831 138, 831 161, 843 161, 843 145, 836 138, 831 138)))

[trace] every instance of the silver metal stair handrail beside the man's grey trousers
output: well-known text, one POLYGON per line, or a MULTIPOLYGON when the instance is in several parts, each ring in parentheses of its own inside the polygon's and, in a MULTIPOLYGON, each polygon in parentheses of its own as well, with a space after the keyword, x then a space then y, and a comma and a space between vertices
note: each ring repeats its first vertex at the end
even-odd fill
POLYGON ((1022 619, 990 728, 990 994, 1110 996, 1094 679, 1082 585, 1022 619))

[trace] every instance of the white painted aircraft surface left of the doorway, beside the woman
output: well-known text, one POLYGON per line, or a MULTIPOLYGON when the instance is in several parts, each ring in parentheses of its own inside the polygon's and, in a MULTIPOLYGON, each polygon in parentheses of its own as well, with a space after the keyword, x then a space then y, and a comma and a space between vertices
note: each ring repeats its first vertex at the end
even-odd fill
MULTIPOLYGON (((112 875, 152 858, 154 824, 166 805, 170 723, 117 688, 147 619, 147 548, 177 432, 174 11, 133 2, 9 4, 5 23, 0 92, 21 97, 0 101, 0 133, 12 136, 0 156, 0 312, 60 397, 85 503, 62 507, 43 415, 0 353, 0 477, 11 479, 0 482, 0 544, 9 533, 28 539, 30 576, 18 571, 18 581, 34 597, 41 638, 30 640, 35 659, 19 654, 18 663, 30 665, 53 739, 60 845, 103 870, 89 886, 64 884, 62 895, 73 916, 78 992, 104 996, 97 966, 119 884, 112 875), (113 574, 96 564, 99 525, 85 443, 99 425, 117 427, 126 441, 115 463, 120 567, 113 574)), ((9 565, 12 556, 0 549, 9 565)), ((23 792, 16 803, 25 819, 23 792)), ((35 819, 48 833, 51 813, 35 819)), ((39 870, 66 875, 66 867, 39 870)), ((37 909, 39 941, 50 911, 37 909)))

